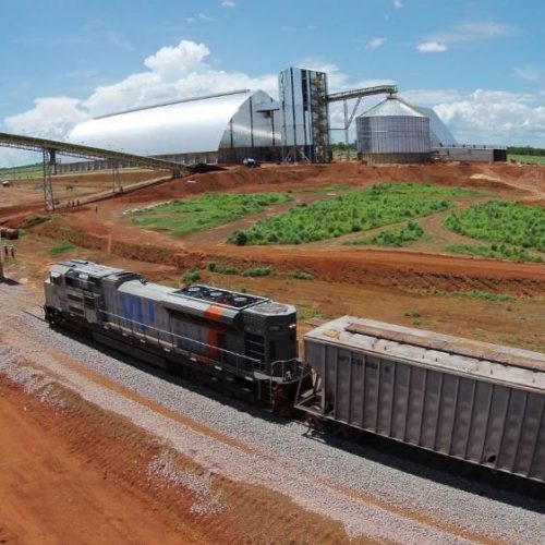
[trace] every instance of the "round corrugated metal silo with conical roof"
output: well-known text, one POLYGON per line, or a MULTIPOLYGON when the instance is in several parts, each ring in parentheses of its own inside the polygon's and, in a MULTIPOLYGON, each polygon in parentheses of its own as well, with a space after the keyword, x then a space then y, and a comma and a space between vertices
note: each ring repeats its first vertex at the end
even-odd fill
POLYGON ((390 96, 356 119, 358 152, 370 165, 427 162, 429 119, 390 96))

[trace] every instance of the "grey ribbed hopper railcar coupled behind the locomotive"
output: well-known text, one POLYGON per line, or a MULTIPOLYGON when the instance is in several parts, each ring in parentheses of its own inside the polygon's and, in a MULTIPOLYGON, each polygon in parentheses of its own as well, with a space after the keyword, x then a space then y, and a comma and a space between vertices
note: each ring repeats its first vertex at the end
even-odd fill
POLYGON ((296 408, 545 482, 545 356, 343 316, 305 336, 314 388, 296 408))

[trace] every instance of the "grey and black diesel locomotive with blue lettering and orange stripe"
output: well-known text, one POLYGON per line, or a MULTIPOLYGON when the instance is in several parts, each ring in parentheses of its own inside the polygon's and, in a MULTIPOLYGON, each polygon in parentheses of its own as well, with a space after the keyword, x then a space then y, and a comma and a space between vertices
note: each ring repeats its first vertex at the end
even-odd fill
POLYGON ((172 373, 271 410, 293 405, 306 367, 296 359, 296 311, 267 298, 70 259, 45 282, 46 319, 172 373))

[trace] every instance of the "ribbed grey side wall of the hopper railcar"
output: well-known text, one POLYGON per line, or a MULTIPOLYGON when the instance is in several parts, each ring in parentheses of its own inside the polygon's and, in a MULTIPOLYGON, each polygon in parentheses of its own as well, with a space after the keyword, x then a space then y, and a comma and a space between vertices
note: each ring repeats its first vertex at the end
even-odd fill
POLYGON ((305 340, 326 414, 403 443, 545 481, 545 392, 305 340))

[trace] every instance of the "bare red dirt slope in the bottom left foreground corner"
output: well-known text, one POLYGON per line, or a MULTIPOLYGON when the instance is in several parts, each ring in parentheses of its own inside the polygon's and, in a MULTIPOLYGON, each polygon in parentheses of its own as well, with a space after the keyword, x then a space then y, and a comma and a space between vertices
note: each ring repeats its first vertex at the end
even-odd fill
POLYGON ((205 472, 59 385, 40 402, 0 375, 0 396, 1 543, 348 542, 340 523, 205 472))

